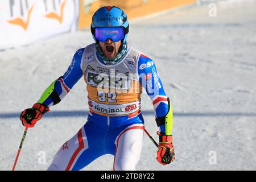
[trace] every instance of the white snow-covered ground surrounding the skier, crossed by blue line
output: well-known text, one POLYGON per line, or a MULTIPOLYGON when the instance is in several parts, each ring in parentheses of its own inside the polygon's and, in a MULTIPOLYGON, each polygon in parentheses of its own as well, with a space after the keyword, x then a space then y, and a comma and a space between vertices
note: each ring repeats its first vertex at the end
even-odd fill
MULTIPOLYGON (((217 4, 217 17, 209 17, 205 5, 130 23, 128 43, 155 61, 174 108, 175 162, 161 166, 144 135, 138 170, 256 169, 256 3, 227 2, 217 4), (215 164, 209 163, 211 151, 215 164)), ((0 170, 13 167, 24 131, 19 112, 66 71, 77 49, 92 42, 85 30, 0 52, 0 170)), ((86 96, 81 79, 28 130, 16 170, 47 169, 86 122, 86 96), (40 151, 46 164, 38 163, 40 151)), ((146 129, 158 141, 145 93, 142 111, 146 129)), ((113 159, 102 156, 84 169, 112 170, 113 159)))

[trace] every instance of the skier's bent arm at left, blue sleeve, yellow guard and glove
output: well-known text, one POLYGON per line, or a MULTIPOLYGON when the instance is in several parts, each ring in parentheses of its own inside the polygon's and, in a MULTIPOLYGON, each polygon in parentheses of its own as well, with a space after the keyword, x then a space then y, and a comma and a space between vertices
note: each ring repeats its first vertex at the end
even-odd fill
POLYGON ((44 113, 49 111, 49 107, 58 104, 72 89, 77 81, 82 77, 81 59, 85 48, 79 49, 73 56, 71 65, 63 76, 53 81, 43 92, 39 101, 31 108, 20 113, 20 120, 25 127, 34 127, 35 123, 42 118, 44 113))

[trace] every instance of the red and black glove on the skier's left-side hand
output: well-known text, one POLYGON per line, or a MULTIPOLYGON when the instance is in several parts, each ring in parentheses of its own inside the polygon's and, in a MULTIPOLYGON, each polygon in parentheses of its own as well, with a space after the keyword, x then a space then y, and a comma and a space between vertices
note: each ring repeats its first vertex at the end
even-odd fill
POLYGON ((36 103, 31 108, 25 109, 20 113, 19 119, 25 127, 34 127, 36 122, 42 118, 44 113, 49 111, 49 107, 36 103))

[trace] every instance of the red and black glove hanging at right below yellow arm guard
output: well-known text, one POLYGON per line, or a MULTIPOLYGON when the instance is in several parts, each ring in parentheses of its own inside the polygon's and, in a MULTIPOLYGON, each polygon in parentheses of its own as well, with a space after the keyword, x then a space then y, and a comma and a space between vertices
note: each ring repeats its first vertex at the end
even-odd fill
POLYGON ((157 134, 159 135, 159 144, 156 160, 165 166, 175 159, 172 135, 163 135, 163 133, 160 133, 159 131, 157 134))

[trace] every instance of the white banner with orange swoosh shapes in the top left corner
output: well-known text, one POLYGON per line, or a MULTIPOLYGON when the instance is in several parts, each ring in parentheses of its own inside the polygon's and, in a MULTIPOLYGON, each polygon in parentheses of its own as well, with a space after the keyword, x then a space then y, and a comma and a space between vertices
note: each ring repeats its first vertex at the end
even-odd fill
POLYGON ((74 29, 79 0, 1 0, 0 49, 74 29))

